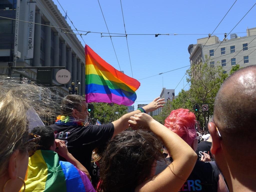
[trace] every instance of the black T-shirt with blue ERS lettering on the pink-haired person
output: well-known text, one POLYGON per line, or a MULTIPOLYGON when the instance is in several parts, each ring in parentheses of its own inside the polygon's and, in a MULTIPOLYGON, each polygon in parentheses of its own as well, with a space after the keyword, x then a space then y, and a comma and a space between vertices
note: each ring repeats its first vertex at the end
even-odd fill
MULTIPOLYGON (((172 160, 157 161, 156 174, 162 172, 172 160)), ((215 165, 197 161, 192 173, 179 191, 213 192, 218 190, 219 169, 215 165)))

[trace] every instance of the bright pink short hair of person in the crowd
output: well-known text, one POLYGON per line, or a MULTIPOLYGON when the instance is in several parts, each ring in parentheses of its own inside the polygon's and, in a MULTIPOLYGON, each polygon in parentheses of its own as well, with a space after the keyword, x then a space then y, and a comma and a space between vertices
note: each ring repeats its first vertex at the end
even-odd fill
POLYGON ((189 112, 188 109, 173 110, 165 119, 165 124, 168 129, 179 135, 187 144, 191 146, 192 142, 197 137, 196 116, 189 112))

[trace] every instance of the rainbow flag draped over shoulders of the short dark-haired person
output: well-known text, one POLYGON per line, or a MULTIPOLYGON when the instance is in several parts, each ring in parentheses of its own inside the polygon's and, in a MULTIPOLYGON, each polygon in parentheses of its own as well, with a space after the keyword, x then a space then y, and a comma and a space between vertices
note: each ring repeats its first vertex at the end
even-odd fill
POLYGON ((95 192, 84 172, 69 162, 59 161, 58 154, 51 150, 37 150, 29 157, 25 183, 26 192, 95 192))

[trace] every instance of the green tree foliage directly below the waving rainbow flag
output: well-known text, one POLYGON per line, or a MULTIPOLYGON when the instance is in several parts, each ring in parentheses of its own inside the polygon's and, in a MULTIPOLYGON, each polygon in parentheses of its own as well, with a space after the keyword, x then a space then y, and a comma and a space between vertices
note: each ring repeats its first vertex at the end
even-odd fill
POLYGON ((93 103, 94 110, 90 114, 91 123, 95 124, 97 119, 101 124, 107 124, 118 120, 122 115, 127 113, 128 107, 125 105, 110 103, 93 103))

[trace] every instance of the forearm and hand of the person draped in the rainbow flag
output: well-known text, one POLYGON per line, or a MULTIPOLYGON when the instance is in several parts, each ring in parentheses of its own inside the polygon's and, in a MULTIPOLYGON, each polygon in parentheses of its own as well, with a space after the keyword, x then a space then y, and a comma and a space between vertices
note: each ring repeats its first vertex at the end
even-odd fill
POLYGON ((73 164, 77 167, 80 171, 84 172, 89 180, 91 180, 91 176, 88 172, 88 170, 76 159, 74 156, 68 152, 68 148, 65 145, 65 141, 55 139, 56 146, 58 146, 58 149, 55 150, 56 153, 58 153, 60 156, 64 157, 69 163, 73 164))

